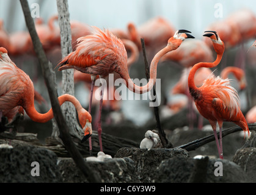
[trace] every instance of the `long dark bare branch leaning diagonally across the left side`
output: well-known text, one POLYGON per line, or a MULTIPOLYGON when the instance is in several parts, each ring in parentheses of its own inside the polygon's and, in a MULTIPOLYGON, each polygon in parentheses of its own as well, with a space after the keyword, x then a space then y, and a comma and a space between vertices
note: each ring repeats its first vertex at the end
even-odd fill
POLYGON ((46 58, 45 52, 43 51, 42 43, 40 42, 37 32, 35 30, 35 24, 31 17, 31 11, 29 9, 27 0, 20 0, 20 2, 26 20, 27 29, 29 30, 29 34, 31 35, 32 38, 35 53, 37 54, 40 66, 42 67, 43 77, 45 79, 46 87, 48 89, 49 98, 53 108, 54 118, 56 119, 57 125, 60 129, 60 138, 62 139, 65 147, 67 148, 68 153, 73 158, 78 168, 80 168, 81 171, 84 173, 84 176, 87 177, 89 182, 100 182, 98 176, 94 174, 94 172, 86 165, 84 159, 82 158, 82 155, 80 154, 75 144, 71 140, 67 124, 60 110, 59 101, 57 99, 57 90, 53 84, 54 79, 53 74, 51 73, 51 71, 53 71, 51 69, 52 67, 49 66, 50 63, 46 58))

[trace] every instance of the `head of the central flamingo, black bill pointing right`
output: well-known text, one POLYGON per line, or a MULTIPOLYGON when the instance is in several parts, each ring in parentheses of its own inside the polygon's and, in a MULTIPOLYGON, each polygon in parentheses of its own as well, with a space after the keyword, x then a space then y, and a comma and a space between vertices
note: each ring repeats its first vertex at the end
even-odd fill
POLYGON ((167 46, 171 46, 172 50, 177 49, 182 41, 186 38, 194 38, 192 35, 188 34, 191 33, 188 30, 177 30, 174 34, 174 37, 170 37, 167 43, 167 46))

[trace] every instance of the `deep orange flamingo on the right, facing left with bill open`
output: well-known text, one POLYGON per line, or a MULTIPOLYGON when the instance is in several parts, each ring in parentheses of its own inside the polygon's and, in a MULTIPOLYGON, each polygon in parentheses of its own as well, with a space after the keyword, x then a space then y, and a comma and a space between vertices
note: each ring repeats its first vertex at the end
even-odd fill
POLYGON ((240 110, 239 96, 235 88, 229 85, 229 79, 221 79, 221 77, 215 77, 213 74, 205 80, 201 87, 196 87, 194 82, 194 76, 197 69, 201 67, 213 68, 217 66, 222 59, 224 53, 224 43, 219 38, 219 35, 215 31, 205 31, 205 37, 210 37, 213 42, 213 48, 217 53, 217 58, 214 62, 197 63, 191 69, 188 76, 189 93, 196 103, 199 113, 211 124, 213 128, 216 145, 218 148, 219 157, 223 159, 222 151, 222 123, 223 121, 235 122, 244 130, 244 136, 246 132, 249 135, 249 127, 246 119, 240 110), (216 133, 216 124, 219 124, 219 141, 216 133))

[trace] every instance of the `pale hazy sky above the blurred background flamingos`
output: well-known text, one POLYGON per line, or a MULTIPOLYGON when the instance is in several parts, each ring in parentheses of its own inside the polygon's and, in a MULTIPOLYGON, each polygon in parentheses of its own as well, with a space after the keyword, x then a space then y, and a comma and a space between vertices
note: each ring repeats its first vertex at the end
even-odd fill
MULTIPOLYGON (((46 21, 57 13, 53 0, 29 0, 40 7, 40 16, 46 21)), ((213 21, 224 19, 243 7, 256 14, 255 0, 69 0, 70 18, 100 28, 125 29, 133 21, 137 26, 154 16, 164 16, 176 29, 188 29, 194 35, 213 21)), ((0 18, 9 32, 24 30, 24 16, 18 0, 0 0, 0 18)))

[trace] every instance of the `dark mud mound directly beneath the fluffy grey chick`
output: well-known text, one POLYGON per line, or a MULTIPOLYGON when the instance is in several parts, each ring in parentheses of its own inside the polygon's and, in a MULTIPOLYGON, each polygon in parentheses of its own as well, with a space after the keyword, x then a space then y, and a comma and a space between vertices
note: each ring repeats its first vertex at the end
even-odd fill
POLYGON ((162 160, 177 156, 188 157, 188 152, 180 148, 153 148, 147 150, 123 147, 115 154, 117 158, 131 158, 135 162, 137 177, 144 183, 153 182, 156 168, 158 168, 162 160))

